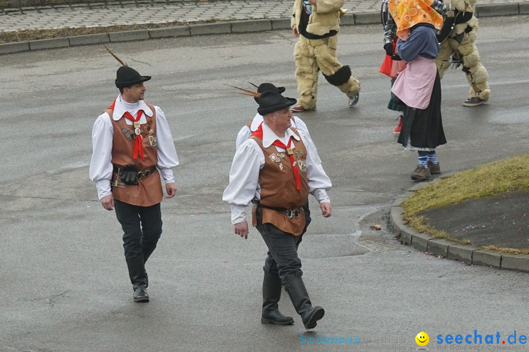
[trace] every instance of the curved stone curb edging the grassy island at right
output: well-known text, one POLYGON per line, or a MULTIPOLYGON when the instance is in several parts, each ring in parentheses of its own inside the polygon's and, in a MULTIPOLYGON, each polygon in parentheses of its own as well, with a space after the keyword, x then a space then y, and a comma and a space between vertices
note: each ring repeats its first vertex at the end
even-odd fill
POLYGON ((408 191, 396 197, 393 206, 389 212, 389 223, 393 227, 395 234, 400 234, 399 241, 411 245, 423 252, 429 252, 437 256, 441 255, 447 259, 465 261, 472 265, 485 265, 504 270, 517 270, 529 273, 529 256, 501 254, 499 251, 479 249, 473 245, 461 245, 461 243, 435 238, 427 233, 419 233, 409 228, 403 219, 402 203, 417 189, 430 183, 436 182, 441 178, 446 178, 456 174, 448 173, 444 177, 439 177, 427 183, 421 183, 409 188, 408 191))

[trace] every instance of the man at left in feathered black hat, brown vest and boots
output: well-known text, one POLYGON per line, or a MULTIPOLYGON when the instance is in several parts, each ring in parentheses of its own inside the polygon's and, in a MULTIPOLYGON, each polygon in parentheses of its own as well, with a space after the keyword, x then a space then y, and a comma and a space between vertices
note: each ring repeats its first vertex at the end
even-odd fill
POLYGON ((97 118, 92 130, 90 179, 96 182, 101 204, 115 208, 123 229, 123 248, 133 287, 134 302, 149 302, 145 262, 162 232, 160 174, 167 198, 176 186, 172 168, 178 165, 175 145, 165 114, 145 103, 141 76, 128 66, 117 70, 120 95, 97 118))

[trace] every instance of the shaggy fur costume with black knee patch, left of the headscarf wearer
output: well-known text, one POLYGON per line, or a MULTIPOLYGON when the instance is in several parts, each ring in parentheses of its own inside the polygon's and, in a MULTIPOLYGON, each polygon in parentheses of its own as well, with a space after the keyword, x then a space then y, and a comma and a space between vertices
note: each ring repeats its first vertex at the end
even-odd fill
MULTIPOLYGON (((338 32, 340 16, 345 13, 340 7, 344 0, 317 0, 312 5, 306 31, 314 35, 326 35, 338 32)), ((299 31, 302 18, 303 1, 295 0, 294 14, 291 27, 299 31)), ((342 66, 336 59, 338 38, 332 35, 322 39, 308 39, 300 32, 299 40, 294 50, 296 62, 296 80, 298 83, 298 104, 306 110, 316 109, 316 94, 318 83, 318 69, 322 71, 327 81, 336 86, 349 98, 354 98, 360 92, 360 82, 351 76, 349 66, 342 66)))

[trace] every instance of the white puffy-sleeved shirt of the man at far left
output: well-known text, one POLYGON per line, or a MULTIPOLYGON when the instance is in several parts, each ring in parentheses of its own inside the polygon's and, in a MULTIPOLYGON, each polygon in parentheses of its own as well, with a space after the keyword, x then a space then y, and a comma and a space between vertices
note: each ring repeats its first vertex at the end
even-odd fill
MULTIPOLYGON (((116 105, 117 104, 118 101, 116 100, 116 105)), ((172 168, 178 166, 178 156, 176 154, 175 144, 172 140, 171 131, 165 114, 159 106, 154 106, 154 109, 156 110, 156 137, 158 148, 158 164, 156 166, 160 170, 160 174, 165 183, 172 183, 175 182, 172 168)), ((114 112, 116 111, 117 109, 114 112)), ((133 115, 135 115, 135 112, 133 115)), ((115 116, 113 116, 113 118, 114 117, 115 116)), ((132 124, 129 120, 125 121, 127 124, 132 124)), ((140 118, 140 123, 145 122, 147 122, 147 120, 143 115, 140 118)), ((110 116, 104 112, 99 115, 94 123, 94 128, 92 129, 93 153, 92 159, 90 160, 89 171, 90 180, 96 183, 97 196, 99 199, 112 194, 110 180, 112 178, 113 169, 111 161, 113 139, 114 128, 112 126, 112 121, 110 120, 110 116)))

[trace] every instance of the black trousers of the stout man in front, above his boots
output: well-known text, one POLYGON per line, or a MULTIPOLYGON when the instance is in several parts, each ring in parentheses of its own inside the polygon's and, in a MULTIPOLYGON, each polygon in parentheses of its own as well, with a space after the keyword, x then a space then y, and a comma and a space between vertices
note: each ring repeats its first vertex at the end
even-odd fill
POLYGON ((302 276, 301 260, 298 258, 297 249, 303 239, 303 234, 307 231, 311 223, 311 211, 308 209, 308 201, 303 206, 305 212, 305 228, 302 234, 294 236, 291 233, 281 231, 270 223, 262 223, 261 209, 257 208, 256 229, 261 234, 268 247, 268 256, 265 259, 265 274, 279 276, 286 284, 291 275, 302 276))

